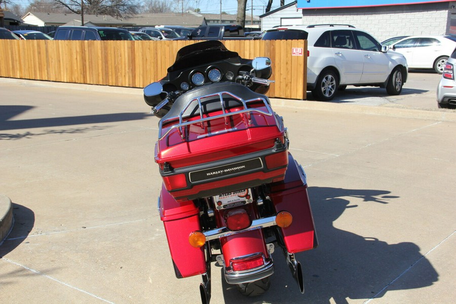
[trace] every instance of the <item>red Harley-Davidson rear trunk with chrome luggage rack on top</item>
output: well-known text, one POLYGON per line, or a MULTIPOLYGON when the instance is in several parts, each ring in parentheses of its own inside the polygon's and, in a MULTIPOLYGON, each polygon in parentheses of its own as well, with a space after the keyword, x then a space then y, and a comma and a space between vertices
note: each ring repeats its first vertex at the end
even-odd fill
POLYGON ((266 96, 227 83, 179 98, 160 121, 155 154, 165 187, 177 201, 284 178, 288 142, 266 96))

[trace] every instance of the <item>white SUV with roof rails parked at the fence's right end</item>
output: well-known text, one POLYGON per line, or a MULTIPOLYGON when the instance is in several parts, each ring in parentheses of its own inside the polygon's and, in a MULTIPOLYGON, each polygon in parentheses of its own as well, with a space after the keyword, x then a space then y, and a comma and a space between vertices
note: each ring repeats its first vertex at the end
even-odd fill
POLYGON ((402 54, 383 47, 369 33, 352 25, 283 26, 268 30, 261 40, 289 40, 301 31, 308 40, 307 88, 317 100, 331 100, 347 85, 386 88, 398 95, 407 80, 402 54))

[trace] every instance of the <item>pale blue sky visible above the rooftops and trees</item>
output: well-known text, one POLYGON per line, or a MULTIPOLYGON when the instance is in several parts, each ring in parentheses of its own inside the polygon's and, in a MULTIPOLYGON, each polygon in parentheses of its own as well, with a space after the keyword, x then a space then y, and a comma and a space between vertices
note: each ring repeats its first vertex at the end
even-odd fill
MULTIPOLYGON (((236 14, 238 10, 237 0, 182 0, 188 7, 195 7, 205 14, 220 14, 220 2, 222 12, 228 14, 236 14)), ((14 4, 19 4, 23 7, 29 5, 29 0, 11 0, 14 4)), ((285 4, 289 4, 293 0, 285 0, 285 4)), ((268 5, 268 0, 247 0, 247 14, 250 14, 250 8, 253 4, 253 15, 259 16, 264 14, 264 9, 268 5)), ((279 8, 280 0, 274 0, 271 10, 279 8)), ((185 8, 184 8, 185 9, 185 8)))

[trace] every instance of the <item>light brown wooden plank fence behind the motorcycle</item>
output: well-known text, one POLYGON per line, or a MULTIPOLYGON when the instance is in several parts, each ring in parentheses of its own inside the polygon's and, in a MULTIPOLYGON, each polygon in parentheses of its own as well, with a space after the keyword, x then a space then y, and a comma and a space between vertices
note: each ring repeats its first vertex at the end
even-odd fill
MULTIPOLYGON (((194 41, 0 40, 0 77, 143 88, 194 41)), ((270 97, 306 99, 307 41, 223 41, 243 58, 272 60, 270 97)))

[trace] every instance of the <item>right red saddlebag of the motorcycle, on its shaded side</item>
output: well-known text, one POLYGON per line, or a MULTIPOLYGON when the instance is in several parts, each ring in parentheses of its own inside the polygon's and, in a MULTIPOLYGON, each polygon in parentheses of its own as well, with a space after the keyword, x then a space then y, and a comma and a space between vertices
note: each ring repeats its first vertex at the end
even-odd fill
POLYGON ((293 216, 291 225, 281 231, 288 252, 296 253, 318 244, 304 170, 291 154, 288 154, 288 162, 285 179, 271 185, 270 197, 277 212, 288 211, 293 216))

